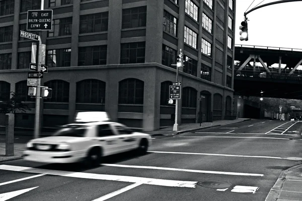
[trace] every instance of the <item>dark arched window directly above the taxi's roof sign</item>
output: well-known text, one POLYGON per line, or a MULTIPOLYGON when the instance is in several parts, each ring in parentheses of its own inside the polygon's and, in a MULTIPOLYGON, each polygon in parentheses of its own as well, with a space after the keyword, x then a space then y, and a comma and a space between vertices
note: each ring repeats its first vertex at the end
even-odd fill
POLYGON ((88 79, 77 83, 77 103, 105 103, 106 83, 88 79))

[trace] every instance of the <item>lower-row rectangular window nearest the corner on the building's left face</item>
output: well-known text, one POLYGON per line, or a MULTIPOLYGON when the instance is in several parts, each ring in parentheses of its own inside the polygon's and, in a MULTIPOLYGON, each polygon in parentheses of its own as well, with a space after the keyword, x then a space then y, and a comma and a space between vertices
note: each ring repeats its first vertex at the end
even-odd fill
POLYGON ((145 42, 122 43, 120 63, 144 63, 145 42))

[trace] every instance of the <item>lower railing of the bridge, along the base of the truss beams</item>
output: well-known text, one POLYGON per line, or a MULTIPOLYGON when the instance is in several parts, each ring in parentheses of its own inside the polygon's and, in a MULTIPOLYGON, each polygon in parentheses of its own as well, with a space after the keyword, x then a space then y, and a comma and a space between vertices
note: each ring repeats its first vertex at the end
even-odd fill
POLYGON ((247 77, 247 78, 263 78, 263 79, 279 79, 279 80, 295 80, 295 81, 302 81, 302 75, 288 75, 285 73, 275 73, 271 72, 269 74, 268 72, 261 72, 261 71, 236 71, 235 72, 236 77, 247 77))

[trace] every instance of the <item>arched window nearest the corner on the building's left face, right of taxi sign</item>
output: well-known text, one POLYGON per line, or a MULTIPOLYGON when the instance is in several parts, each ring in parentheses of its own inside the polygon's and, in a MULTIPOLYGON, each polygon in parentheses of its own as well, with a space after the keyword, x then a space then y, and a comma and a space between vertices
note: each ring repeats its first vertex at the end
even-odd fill
POLYGON ((119 82, 119 104, 143 104, 143 81, 134 78, 119 82))

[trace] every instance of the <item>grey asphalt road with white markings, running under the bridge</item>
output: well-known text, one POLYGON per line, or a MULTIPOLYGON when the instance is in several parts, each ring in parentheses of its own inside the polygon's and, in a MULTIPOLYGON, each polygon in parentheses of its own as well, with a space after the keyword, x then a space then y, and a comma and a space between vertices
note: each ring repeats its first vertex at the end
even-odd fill
POLYGON ((302 163, 301 131, 302 122, 254 119, 154 139, 145 156, 93 169, 4 162, 0 200, 264 201, 281 171, 302 163))

